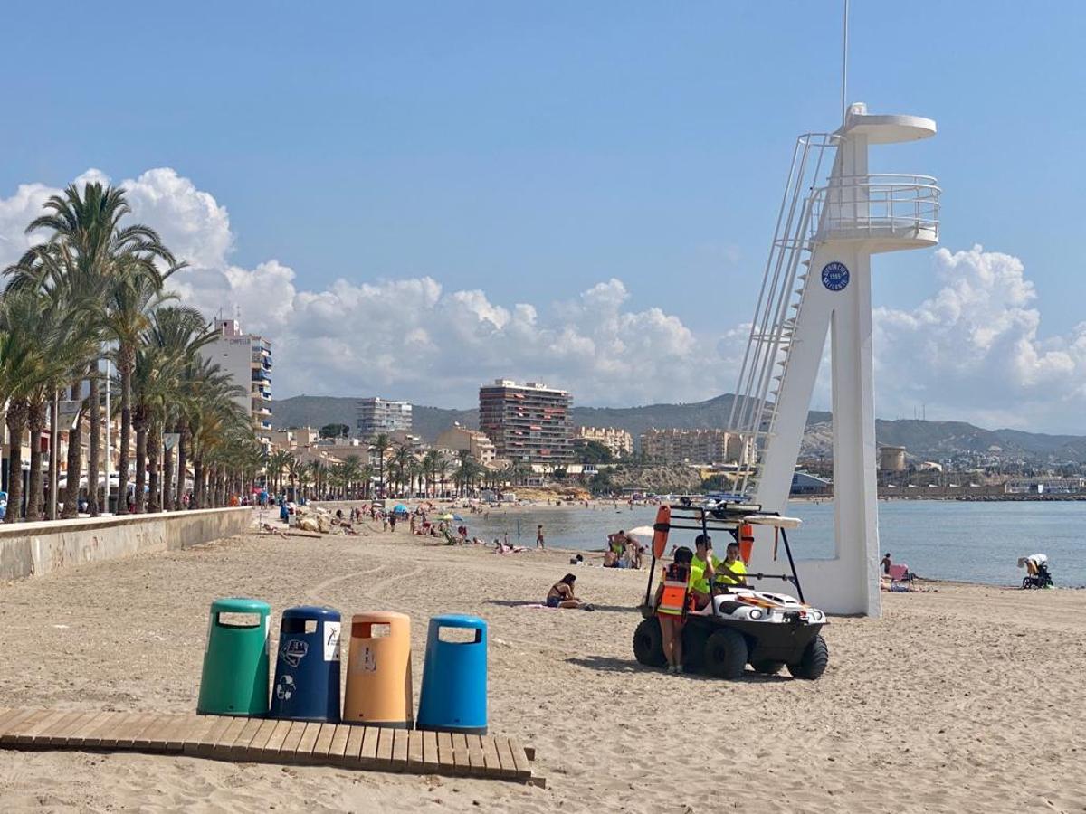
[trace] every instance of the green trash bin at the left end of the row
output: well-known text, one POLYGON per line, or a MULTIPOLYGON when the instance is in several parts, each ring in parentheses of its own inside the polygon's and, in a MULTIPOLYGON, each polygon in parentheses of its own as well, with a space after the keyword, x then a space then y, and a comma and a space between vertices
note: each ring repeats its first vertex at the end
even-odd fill
POLYGON ((211 603, 199 714, 267 714, 270 615, 272 607, 258 599, 231 597, 211 603))

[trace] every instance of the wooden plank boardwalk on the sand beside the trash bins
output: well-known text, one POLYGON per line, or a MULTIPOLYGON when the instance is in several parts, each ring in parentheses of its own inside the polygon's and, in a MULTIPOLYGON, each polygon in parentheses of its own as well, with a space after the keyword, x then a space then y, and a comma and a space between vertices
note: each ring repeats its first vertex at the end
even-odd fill
POLYGON ((187 754, 543 785, 532 775, 533 750, 514 738, 273 718, 0 708, 0 749, 187 754))

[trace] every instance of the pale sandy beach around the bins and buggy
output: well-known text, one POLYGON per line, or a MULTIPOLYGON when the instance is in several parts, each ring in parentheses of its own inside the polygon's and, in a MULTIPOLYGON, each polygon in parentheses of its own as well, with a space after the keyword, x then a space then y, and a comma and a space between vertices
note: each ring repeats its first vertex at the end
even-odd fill
POLYGON ((220 596, 411 613, 416 692, 427 618, 477 613, 491 730, 534 747, 547 786, 0 751, 0 811, 1086 811, 1086 592, 888 595, 882 620, 833 620, 821 681, 721 683, 633 661, 644 572, 577 569, 595 612, 520 605, 568 560, 254 533, 7 584, 3 703, 66 710, 193 711, 220 596))

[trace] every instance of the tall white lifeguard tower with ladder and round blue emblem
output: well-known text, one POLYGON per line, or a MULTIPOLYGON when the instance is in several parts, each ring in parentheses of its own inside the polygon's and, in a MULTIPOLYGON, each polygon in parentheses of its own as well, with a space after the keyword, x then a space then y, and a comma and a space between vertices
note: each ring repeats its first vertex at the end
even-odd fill
MULTIPOLYGON (((808 601, 831 613, 881 613, 871 255, 939 238, 935 179, 870 175, 868 149, 934 135, 931 119, 853 104, 835 132, 798 139, 735 389, 731 429, 758 459, 744 489, 783 512, 829 332, 834 557, 797 568, 808 601)), ((770 551, 756 546, 750 571, 771 572, 770 551)))

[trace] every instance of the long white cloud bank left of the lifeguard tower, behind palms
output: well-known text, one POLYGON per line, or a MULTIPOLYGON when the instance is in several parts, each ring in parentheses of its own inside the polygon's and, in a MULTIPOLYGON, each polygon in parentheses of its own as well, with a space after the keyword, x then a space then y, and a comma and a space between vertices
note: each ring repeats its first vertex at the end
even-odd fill
MULTIPOLYGON (((79 180, 110 179, 88 170, 79 180)), ((696 399, 729 385, 727 376, 703 378, 704 363, 716 358, 711 343, 660 308, 629 308, 615 278, 546 304, 500 304, 484 291, 447 291, 431 277, 339 279, 314 291, 276 259, 232 264, 226 207, 175 170, 121 183, 134 218, 190 264, 172 288, 209 317, 238 307, 243 329, 272 340, 278 396, 380 392, 466 405, 482 382, 515 377, 567 387, 580 404, 623 405, 696 399)), ((26 185, 0 200, 0 252, 4 239, 12 243, 4 258, 28 245, 22 230, 55 191, 26 185)))

